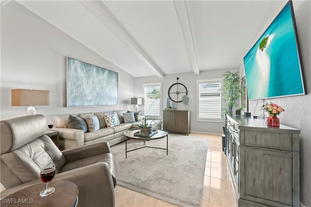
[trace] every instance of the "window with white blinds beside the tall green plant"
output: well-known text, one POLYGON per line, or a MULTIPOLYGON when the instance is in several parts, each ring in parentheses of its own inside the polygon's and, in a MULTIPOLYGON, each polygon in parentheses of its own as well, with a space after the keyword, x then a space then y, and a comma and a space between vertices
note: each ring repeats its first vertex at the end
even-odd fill
POLYGON ((197 80, 197 121, 222 121, 222 79, 197 80))

